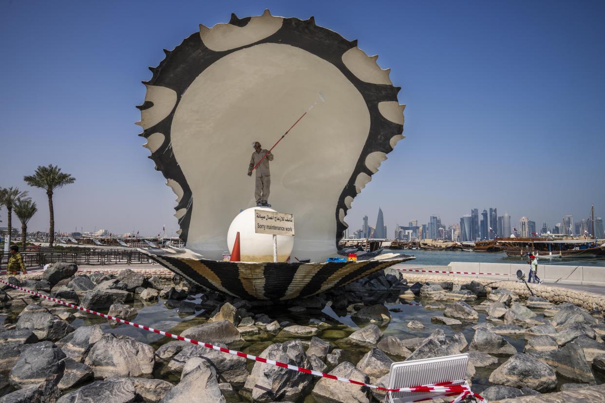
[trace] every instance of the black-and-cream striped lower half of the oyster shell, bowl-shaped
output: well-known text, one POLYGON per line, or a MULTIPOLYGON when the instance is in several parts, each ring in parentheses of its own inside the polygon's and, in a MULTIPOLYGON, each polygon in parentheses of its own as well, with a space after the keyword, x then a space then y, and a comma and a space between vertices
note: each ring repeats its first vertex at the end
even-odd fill
POLYGON ((184 248, 140 248, 155 262, 212 291, 246 300, 284 301, 310 297, 368 276, 373 272, 415 259, 403 256, 357 262, 286 263, 223 262, 204 259, 184 248))

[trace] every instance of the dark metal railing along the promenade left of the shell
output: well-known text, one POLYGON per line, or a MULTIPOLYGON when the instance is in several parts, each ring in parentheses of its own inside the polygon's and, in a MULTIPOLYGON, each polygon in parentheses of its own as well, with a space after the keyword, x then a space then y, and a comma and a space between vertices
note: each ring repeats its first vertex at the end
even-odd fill
MULTIPOLYGON (((6 268, 9 253, 0 251, 0 268, 6 268)), ((137 265, 153 264, 153 260, 137 250, 95 249, 95 250, 40 250, 21 252, 25 266, 44 266, 47 263, 66 262, 77 265, 137 265)))

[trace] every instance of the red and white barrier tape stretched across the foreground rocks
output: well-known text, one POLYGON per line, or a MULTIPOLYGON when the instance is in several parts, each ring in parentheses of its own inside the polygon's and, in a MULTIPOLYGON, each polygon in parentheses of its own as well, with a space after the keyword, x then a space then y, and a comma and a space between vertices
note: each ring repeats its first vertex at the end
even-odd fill
POLYGON ((224 347, 214 346, 214 344, 203 343, 202 341, 197 341, 197 340, 194 340, 191 338, 174 335, 172 333, 164 332, 163 330, 154 329, 149 326, 143 326, 142 324, 137 324, 137 323, 134 323, 134 322, 131 322, 128 320, 123 320, 123 319, 116 318, 116 317, 113 317, 110 315, 105 315, 100 312, 93 311, 92 309, 83 308, 82 306, 79 306, 79 305, 74 305, 74 304, 70 304, 65 301, 57 300, 57 298, 48 297, 47 295, 40 294, 39 292, 31 291, 30 289, 27 289, 27 288, 22 288, 22 287, 16 286, 9 282, 5 282, 4 280, 0 280, 0 283, 8 285, 15 289, 20 289, 21 291, 25 291, 28 294, 36 295, 37 297, 41 297, 46 300, 59 303, 60 305, 65 305, 65 306, 69 306, 70 308, 79 309, 80 311, 88 312, 89 314, 94 314, 94 315, 97 315, 97 316, 100 316, 103 318, 114 320, 119 323, 124 323, 124 324, 129 324, 130 326, 139 327, 139 329, 147 330, 148 332, 157 333, 157 334, 160 334, 160 335, 163 335, 166 337, 172 337, 176 340, 186 341, 191 344, 197 344, 198 346, 204 346, 208 349, 213 349, 213 350, 221 351, 223 353, 237 355, 240 357, 251 359, 252 361, 258 361, 260 363, 270 364, 273 366, 293 370, 296 372, 309 373, 310 375, 321 376, 323 378, 336 379, 337 381, 348 382, 348 383, 355 384, 355 385, 370 387, 370 388, 374 388, 377 390, 382 390, 384 392, 415 392, 415 393, 429 393, 429 392, 439 393, 439 392, 442 392, 442 395, 434 396, 433 399, 440 398, 443 396, 459 395, 456 399, 454 399, 454 401, 452 401, 452 403, 459 402, 464 397, 469 396, 469 395, 474 396, 475 398, 479 399, 480 401, 484 400, 477 393, 474 393, 473 391, 471 391, 470 387, 468 386, 468 384, 466 383, 465 380, 447 381, 447 382, 440 382, 437 384, 405 387, 405 388, 397 388, 397 389, 387 389, 387 388, 384 388, 381 386, 375 386, 375 385, 366 384, 364 382, 354 381, 353 379, 341 378, 340 376, 330 375, 329 373, 325 373, 325 372, 318 372, 315 370, 306 369, 306 368, 302 368, 302 367, 298 367, 298 366, 293 366, 293 365, 286 364, 286 363, 280 363, 280 361, 273 361, 272 359, 257 357, 255 355, 246 354, 246 353, 243 353, 240 351, 230 350, 230 349, 226 349, 224 347))

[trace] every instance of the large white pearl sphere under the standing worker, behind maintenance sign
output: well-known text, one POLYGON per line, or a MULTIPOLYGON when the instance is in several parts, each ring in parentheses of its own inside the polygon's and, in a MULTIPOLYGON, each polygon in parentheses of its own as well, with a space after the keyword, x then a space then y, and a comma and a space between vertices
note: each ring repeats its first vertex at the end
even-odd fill
MULTIPOLYGON (((254 210, 273 211, 267 207, 250 207, 241 211, 229 225, 227 245, 233 253, 235 234, 240 233, 242 262, 273 262, 273 235, 257 234, 254 228, 254 210)), ((294 247, 293 236, 277 236, 277 261, 286 262, 294 247)))

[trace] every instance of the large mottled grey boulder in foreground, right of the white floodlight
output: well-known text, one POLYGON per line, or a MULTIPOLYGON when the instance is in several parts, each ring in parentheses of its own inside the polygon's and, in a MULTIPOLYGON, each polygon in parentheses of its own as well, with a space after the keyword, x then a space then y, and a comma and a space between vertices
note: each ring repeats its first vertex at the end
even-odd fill
POLYGON ((489 375, 492 384, 529 387, 550 392, 557 387, 557 376, 548 364, 523 353, 516 353, 489 375))

